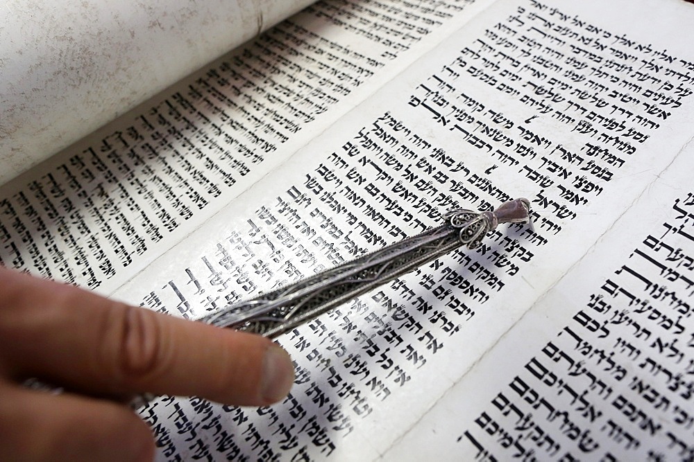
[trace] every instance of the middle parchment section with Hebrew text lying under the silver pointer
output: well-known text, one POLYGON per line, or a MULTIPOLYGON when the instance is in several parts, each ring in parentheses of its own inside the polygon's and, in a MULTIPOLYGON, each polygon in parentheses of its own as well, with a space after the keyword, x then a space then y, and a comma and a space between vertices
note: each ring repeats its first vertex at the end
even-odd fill
POLYGON ((298 368, 281 405, 153 402, 163 459, 378 458, 611 229, 694 135, 687 47, 612 5, 495 3, 116 292, 194 316, 448 208, 532 203, 532 226, 280 337, 298 368))

